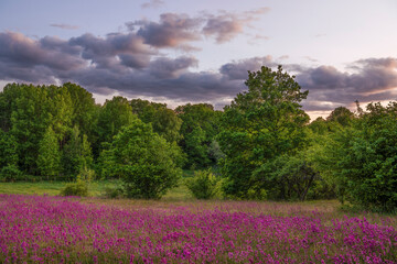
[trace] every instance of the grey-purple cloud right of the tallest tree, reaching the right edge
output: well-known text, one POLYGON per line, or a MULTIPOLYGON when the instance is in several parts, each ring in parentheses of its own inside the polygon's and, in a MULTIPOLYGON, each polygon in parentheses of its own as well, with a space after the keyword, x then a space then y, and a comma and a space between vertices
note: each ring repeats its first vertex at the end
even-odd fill
MULTIPOLYGON (((341 72, 332 66, 298 69, 297 80, 309 89, 308 100, 330 101, 347 106, 361 102, 395 100, 397 89, 397 58, 366 58, 352 63, 341 72)), ((319 108, 320 109, 320 108, 319 108)))

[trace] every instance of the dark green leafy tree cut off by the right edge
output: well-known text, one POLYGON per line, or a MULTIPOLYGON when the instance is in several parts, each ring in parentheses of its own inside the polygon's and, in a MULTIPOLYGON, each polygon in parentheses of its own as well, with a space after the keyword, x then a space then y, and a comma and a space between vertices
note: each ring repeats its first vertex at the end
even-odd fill
POLYGON ((397 209, 396 110, 396 102, 369 103, 352 128, 334 135, 326 156, 344 190, 342 200, 371 210, 397 209))

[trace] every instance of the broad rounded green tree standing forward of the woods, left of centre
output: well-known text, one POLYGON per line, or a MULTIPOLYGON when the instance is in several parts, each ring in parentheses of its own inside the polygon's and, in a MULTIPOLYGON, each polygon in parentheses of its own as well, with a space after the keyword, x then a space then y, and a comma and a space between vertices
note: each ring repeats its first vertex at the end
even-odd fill
POLYGON ((182 154, 139 119, 121 129, 101 161, 125 182, 128 197, 158 199, 178 184, 182 154))

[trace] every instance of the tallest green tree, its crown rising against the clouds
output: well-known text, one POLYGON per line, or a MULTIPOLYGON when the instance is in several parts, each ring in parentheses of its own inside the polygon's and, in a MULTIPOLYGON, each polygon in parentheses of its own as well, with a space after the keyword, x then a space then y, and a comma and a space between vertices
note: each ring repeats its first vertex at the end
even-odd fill
POLYGON ((238 198, 247 198, 258 180, 251 180, 255 169, 304 144, 303 128, 309 122, 299 105, 308 91, 302 92, 294 77, 283 73, 281 66, 277 72, 265 66, 248 72, 245 84, 248 91, 238 94, 225 107, 217 136, 226 155, 222 163, 222 173, 227 177, 224 191, 238 198))

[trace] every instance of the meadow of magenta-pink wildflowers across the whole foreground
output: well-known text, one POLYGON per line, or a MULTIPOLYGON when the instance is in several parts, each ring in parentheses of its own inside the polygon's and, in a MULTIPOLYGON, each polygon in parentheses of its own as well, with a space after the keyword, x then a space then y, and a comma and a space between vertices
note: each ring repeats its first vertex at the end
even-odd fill
POLYGON ((0 195, 0 263, 396 263, 396 226, 293 204, 0 195))

